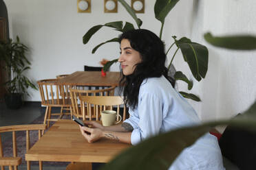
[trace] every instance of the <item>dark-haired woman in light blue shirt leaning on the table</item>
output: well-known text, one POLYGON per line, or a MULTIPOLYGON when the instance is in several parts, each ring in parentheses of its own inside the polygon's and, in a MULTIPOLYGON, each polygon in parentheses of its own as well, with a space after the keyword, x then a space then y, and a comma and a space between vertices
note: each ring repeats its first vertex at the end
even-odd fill
MULTIPOLYGON (((81 133, 89 143, 110 138, 136 145, 150 136, 200 123, 195 110, 173 88, 166 58, 162 40, 149 30, 134 29, 120 36, 120 85, 130 117, 109 127, 87 121, 93 128, 81 127, 81 133)), ((170 169, 224 169, 215 136, 205 134, 184 149, 170 169)))

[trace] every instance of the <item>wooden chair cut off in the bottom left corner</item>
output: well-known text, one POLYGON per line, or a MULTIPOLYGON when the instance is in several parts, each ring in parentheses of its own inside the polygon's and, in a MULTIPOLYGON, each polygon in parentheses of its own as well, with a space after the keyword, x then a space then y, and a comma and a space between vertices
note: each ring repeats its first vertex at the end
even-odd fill
MULTIPOLYGON (((26 131, 26 151, 30 149, 30 131, 38 130, 39 139, 41 138, 41 131, 45 130, 45 124, 34 124, 34 125, 9 125, 0 127, 0 167, 4 170, 4 166, 8 166, 9 169, 18 169, 18 165, 21 165, 21 158, 17 157, 17 131, 26 131), (2 132, 12 132, 12 149, 13 157, 4 157, 3 156, 3 145, 1 142, 1 133, 2 132)), ((42 169, 42 162, 39 161, 39 169, 42 169)), ((30 162, 27 161, 27 169, 30 169, 30 162)))

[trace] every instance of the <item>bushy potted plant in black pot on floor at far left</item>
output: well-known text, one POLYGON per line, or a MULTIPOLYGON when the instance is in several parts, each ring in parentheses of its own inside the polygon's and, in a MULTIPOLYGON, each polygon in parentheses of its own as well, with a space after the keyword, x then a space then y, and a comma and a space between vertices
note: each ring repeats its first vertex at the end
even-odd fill
POLYGON ((19 41, 18 36, 16 42, 12 39, 0 41, 0 60, 3 61, 3 68, 8 74, 8 81, 1 86, 6 88, 5 101, 6 106, 10 109, 17 109, 22 106, 23 94, 29 95, 29 87, 37 90, 28 77, 23 75, 25 71, 30 69, 30 62, 25 56, 27 51, 28 47, 19 41))

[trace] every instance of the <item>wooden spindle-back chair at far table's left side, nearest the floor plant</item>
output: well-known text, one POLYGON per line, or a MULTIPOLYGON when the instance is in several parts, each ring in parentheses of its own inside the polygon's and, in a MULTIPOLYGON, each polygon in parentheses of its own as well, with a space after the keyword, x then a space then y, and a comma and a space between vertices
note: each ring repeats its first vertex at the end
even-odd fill
POLYGON ((59 85, 56 79, 49 80, 39 80, 39 90, 41 95, 41 104, 46 106, 45 119, 43 123, 47 121, 47 127, 49 127, 50 121, 57 121, 61 119, 64 114, 71 114, 71 112, 52 114, 52 107, 57 108, 70 108, 72 107, 72 102, 70 99, 70 93, 68 91, 69 86, 59 85), (52 115, 59 115, 58 119, 51 119, 52 115))

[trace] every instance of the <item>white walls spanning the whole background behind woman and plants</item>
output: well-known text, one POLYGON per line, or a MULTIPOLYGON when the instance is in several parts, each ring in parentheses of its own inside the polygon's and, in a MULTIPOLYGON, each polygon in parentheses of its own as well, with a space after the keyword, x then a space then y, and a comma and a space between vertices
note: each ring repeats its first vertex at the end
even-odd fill
MULTIPOLYGON (((78 13, 76 0, 5 0, 10 17, 11 36, 19 35, 22 42, 31 49, 29 58, 32 69, 28 76, 36 81, 53 78, 59 74, 82 71, 83 65, 99 66, 102 58, 112 60, 118 57, 119 46, 111 43, 100 47, 95 54, 92 49, 100 42, 118 36, 118 32, 103 28, 83 45, 85 32, 94 25, 111 21, 134 23, 122 5, 118 13, 104 13, 103 1, 92 0, 92 13, 78 13)), ((130 0, 127 0, 130 3, 130 0)), ((160 22, 154 18, 155 1, 145 1, 142 28, 159 34, 160 22)), ((232 117, 242 112, 255 100, 256 60, 254 51, 228 51, 207 44, 203 34, 211 31, 214 35, 255 33, 256 2, 248 0, 181 0, 167 16, 163 39, 167 47, 171 36, 187 36, 209 48, 209 72, 206 79, 194 82, 192 92, 199 95, 202 102, 189 101, 200 117, 206 121, 222 117, 232 117)), ((134 23, 134 25, 136 25, 134 23)), ((174 49, 173 49, 174 50, 174 49)), ((173 52, 173 51, 171 51, 173 52)), ((169 53, 169 60, 172 53, 169 53)), ((193 78, 183 58, 178 53, 174 60, 177 70, 193 78)), ((118 71, 118 64, 111 66, 118 71)), ((179 90, 185 90, 182 82, 179 90)), ((28 101, 40 101, 39 91, 30 90, 28 101)))

